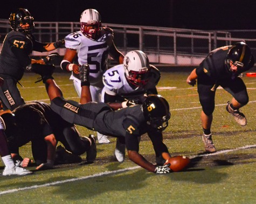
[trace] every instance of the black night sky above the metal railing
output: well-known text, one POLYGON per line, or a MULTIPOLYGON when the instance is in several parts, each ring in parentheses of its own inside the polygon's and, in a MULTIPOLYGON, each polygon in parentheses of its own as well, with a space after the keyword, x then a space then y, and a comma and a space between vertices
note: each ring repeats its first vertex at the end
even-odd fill
POLYGON ((256 29, 253 0, 1 0, 0 19, 17 8, 36 21, 79 21, 85 9, 100 12, 103 23, 199 30, 256 29))

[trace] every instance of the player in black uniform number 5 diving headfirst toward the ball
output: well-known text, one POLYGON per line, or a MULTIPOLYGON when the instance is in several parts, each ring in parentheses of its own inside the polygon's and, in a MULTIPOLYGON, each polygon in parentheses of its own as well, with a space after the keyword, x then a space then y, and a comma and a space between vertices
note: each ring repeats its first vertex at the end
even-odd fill
POLYGON ((84 126, 102 134, 123 137, 131 161, 150 172, 170 173, 170 164, 156 166, 139 154, 139 141, 137 140, 137 137, 147 133, 153 143, 156 156, 162 156, 165 160, 171 158, 167 146, 163 143, 162 136, 162 131, 167 128, 170 119, 167 100, 160 95, 150 95, 143 104, 113 111, 108 104, 91 102, 88 76, 88 65, 81 65, 82 91, 79 104, 76 101, 63 98, 63 93, 51 73, 41 73, 51 100, 52 110, 67 122, 84 126))

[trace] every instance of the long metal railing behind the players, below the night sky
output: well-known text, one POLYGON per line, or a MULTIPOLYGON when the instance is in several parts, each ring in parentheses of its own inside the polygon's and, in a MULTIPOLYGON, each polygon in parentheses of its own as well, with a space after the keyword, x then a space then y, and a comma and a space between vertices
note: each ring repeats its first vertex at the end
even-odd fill
MULTIPOLYGON (((252 31, 246 35, 245 32, 238 31, 202 31, 107 23, 103 23, 103 26, 114 30, 114 41, 121 52, 125 54, 129 50, 140 49, 151 57, 150 62, 155 63, 198 64, 211 50, 236 41, 245 41, 256 52, 256 39, 251 38, 256 35, 252 31)), ((4 37, 10 30, 9 21, 0 19, 0 34, 4 37)), ((79 30, 78 22, 36 21, 33 34, 38 41, 54 42, 79 30)))

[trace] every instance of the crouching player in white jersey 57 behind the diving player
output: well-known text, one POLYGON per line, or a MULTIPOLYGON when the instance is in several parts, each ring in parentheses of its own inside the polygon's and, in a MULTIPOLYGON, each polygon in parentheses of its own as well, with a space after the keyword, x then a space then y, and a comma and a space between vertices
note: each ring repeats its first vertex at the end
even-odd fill
MULTIPOLYGON (((148 57, 141 50, 130 51, 124 56, 123 64, 108 69, 103 74, 102 101, 115 110, 134 104, 142 104, 148 94, 157 94, 156 85, 160 71, 149 64, 148 57)), ((125 158, 125 141, 116 139, 117 161, 125 158)))

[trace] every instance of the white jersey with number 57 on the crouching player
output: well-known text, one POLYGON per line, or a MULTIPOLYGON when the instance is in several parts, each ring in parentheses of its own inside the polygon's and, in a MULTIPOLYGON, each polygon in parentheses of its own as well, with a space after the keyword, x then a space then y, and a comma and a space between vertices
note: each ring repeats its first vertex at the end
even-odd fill
POLYGON ((154 89, 161 75, 158 69, 150 65, 149 81, 144 88, 134 90, 128 83, 125 75, 123 64, 118 64, 115 67, 108 69, 103 74, 104 88, 102 90, 101 99, 103 101, 105 92, 112 96, 121 96, 126 99, 142 99, 148 89, 154 89))

